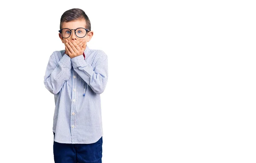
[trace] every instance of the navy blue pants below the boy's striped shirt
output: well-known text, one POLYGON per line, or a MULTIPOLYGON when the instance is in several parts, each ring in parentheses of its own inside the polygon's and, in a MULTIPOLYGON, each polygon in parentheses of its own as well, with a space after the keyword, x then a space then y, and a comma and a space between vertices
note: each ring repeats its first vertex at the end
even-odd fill
MULTIPOLYGON (((55 137, 55 133, 53 132, 55 137)), ((102 137, 91 144, 66 144, 53 141, 55 163, 102 163, 102 137)))

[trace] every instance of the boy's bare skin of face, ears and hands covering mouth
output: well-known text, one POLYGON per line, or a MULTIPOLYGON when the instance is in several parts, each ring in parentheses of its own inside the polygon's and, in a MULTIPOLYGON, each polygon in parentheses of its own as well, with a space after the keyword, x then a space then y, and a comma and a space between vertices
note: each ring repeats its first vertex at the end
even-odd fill
MULTIPOLYGON (((73 20, 69 22, 64 22, 62 24, 62 29, 77 29, 77 28, 85 28, 86 29, 86 22, 84 19, 80 20, 73 20)), ((70 37, 62 38, 61 34, 59 33, 59 37, 61 42, 65 45, 66 54, 70 57, 77 57, 82 55, 86 46, 87 42, 93 37, 93 31, 87 31, 87 34, 83 38, 79 38, 76 36, 75 31, 72 30, 70 37)))

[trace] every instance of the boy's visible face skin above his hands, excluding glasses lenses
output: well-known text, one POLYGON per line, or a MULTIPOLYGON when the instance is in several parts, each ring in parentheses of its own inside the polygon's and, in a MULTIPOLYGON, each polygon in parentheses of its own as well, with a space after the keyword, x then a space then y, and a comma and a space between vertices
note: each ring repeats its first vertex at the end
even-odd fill
MULTIPOLYGON (((86 29, 86 22, 84 19, 82 20, 73 20, 73 21, 70 21, 70 22, 63 22, 62 24, 62 29, 64 28, 67 28, 67 29, 78 29, 78 28, 85 28, 86 29)), ((77 37, 76 34, 75 34, 75 30, 71 30, 71 35, 70 37, 68 38, 63 38, 61 37, 61 34, 59 33, 59 37, 62 41, 62 43, 67 43, 67 41, 78 41, 78 40, 85 40, 85 44, 87 42, 90 41, 91 37, 93 37, 93 31, 87 31, 87 34, 86 36, 80 38, 80 37, 77 37)))

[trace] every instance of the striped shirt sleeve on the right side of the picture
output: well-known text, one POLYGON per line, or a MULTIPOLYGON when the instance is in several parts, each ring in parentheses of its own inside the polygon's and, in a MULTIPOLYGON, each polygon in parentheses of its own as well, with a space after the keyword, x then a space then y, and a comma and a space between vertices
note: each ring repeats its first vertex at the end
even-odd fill
POLYGON ((71 58, 73 69, 96 94, 102 94, 108 82, 108 56, 103 51, 102 53, 94 68, 86 63, 82 55, 71 58))

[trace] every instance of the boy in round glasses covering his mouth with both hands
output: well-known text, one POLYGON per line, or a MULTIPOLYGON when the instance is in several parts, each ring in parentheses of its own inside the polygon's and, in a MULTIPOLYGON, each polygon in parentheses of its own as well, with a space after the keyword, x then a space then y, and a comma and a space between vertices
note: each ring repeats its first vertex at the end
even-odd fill
POLYGON ((89 49, 92 36, 83 10, 62 14, 59 37, 65 50, 52 53, 44 76, 55 98, 55 163, 102 163, 100 94, 108 81, 108 56, 89 49))

